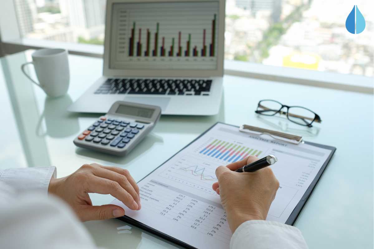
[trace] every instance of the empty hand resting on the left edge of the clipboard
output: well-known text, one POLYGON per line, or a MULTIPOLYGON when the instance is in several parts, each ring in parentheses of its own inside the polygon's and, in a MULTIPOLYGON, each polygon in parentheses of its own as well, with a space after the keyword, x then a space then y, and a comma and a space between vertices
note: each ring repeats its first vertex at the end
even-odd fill
POLYGON ((48 193, 65 200, 81 221, 121 217, 116 205, 92 206, 88 193, 111 194, 132 210, 139 210, 139 187, 129 171, 99 164, 85 164, 67 177, 52 178, 48 193))

